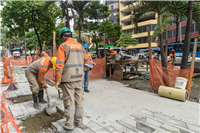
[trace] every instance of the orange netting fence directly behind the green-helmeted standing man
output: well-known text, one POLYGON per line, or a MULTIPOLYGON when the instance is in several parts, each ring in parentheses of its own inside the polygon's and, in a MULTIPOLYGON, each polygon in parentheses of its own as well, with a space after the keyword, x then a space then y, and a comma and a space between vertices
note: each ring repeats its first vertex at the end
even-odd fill
MULTIPOLYGON (((89 80, 100 79, 106 76, 106 59, 94 59, 93 60, 96 65, 93 66, 90 71, 89 80)), ((51 68, 46 74, 45 78, 54 80, 54 72, 53 68, 51 68)))

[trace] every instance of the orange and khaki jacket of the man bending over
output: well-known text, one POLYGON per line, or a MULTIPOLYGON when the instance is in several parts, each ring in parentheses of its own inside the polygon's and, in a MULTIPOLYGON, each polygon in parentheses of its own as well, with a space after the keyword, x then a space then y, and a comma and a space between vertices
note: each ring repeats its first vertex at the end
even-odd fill
POLYGON ((31 72, 38 73, 38 81, 40 85, 46 86, 46 83, 44 81, 44 76, 50 69, 51 64, 52 64, 52 59, 49 56, 46 56, 38 59, 37 61, 29 65, 28 68, 31 70, 31 72))

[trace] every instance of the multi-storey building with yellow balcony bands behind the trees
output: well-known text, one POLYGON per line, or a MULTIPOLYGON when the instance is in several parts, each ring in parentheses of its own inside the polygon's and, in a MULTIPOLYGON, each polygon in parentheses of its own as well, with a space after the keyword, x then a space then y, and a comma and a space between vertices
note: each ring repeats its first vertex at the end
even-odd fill
MULTIPOLYGON (((122 25, 122 32, 125 34, 132 33, 132 37, 138 40, 136 46, 129 46, 127 48, 147 48, 148 47, 148 32, 147 27, 150 26, 150 35, 153 35, 155 26, 157 24, 157 14, 153 12, 148 12, 142 16, 138 21, 138 32, 134 33, 134 24, 131 20, 133 6, 136 7, 138 2, 131 3, 127 0, 119 0, 119 20, 120 25, 122 25)), ((158 47, 155 40, 151 39, 151 46, 158 47)))

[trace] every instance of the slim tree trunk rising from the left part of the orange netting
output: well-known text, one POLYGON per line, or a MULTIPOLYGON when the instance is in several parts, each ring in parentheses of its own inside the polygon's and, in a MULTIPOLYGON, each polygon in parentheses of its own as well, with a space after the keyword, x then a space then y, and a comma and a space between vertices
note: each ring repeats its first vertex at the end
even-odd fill
POLYGON ((163 45, 162 18, 160 13, 159 13, 159 37, 160 37, 160 54, 162 59, 162 67, 167 68, 167 61, 165 58, 165 51, 163 45))

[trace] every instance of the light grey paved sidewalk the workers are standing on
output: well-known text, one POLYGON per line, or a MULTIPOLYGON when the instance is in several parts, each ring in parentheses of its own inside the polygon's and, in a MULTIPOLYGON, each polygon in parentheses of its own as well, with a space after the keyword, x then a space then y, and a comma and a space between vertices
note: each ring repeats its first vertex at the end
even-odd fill
MULTIPOLYGON (((7 98, 30 95, 24 68, 15 67, 14 78, 19 90, 12 91, 7 98)), ((8 85, 3 85, 3 90, 6 90, 8 85)), ((77 128, 76 133, 200 132, 200 104, 198 103, 160 97, 157 94, 132 89, 120 82, 105 79, 90 81, 89 90, 90 93, 83 95, 85 126, 82 129, 77 128)), ((48 91, 51 104, 64 110, 63 101, 58 98, 55 87, 48 86, 48 91)), ((35 110, 32 101, 11 104, 7 107, 18 120, 32 117, 42 111, 42 109, 35 110)), ((44 107, 46 105, 43 109, 44 107)), ((52 123, 53 131, 62 132, 64 121, 63 119, 52 123)))

